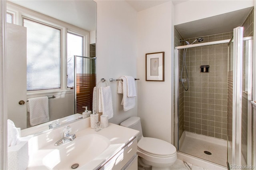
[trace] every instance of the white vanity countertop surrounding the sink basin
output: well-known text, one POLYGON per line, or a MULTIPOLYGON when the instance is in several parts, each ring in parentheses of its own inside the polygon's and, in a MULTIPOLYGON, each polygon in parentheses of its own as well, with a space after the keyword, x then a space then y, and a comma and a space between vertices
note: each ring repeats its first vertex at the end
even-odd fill
MULTIPOLYGON (((82 122, 84 121, 80 121, 80 123, 82 122)), ((72 127, 72 124, 70 126, 72 127)), ((107 128, 103 128, 98 132, 96 132, 94 129, 90 127, 76 130, 75 131, 76 139, 74 139, 73 141, 78 140, 79 138, 82 138, 84 135, 88 135, 88 134, 98 134, 98 135, 104 136, 110 141, 109 146, 106 148, 106 150, 104 150, 102 153, 96 156, 96 158, 93 158, 92 160, 90 160, 90 162, 84 165, 80 165, 77 169, 92 170, 92 169, 99 168, 104 162, 112 158, 112 156, 118 153, 122 148, 124 148, 126 144, 128 144, 131 140, 133 140, 138 135, 138 133, 139 133, 138 130, 122 127, 112 123, 109 123, 109 126, 107 128)), ((74 134, 74 133, 71 132, 71 134, 74 134)), ((47 144, 36 144, 36 147, 32 146, 32 148, 38 148, 38 149, 36 151, 33 151, 32 154, 30 154, 30 163, 28 165, 27 170, 51 169, 44 165, 44 161, 45 161, 45 158, 49 159, 48 157, 50 155, 49 153, 51 152, 51 150, 58 150, 59 146, 54 146, 54 143, 57 141, 56 138, 58 137, 56 136, 59 136, 59 132, 54 132, 54 130, 52 130, 52 132, 49 132, 48 134, 45 134, 45 135, 46 135, 45 137, 48 138, 48 140, 46 139, 46 141, 48 141, 47 144), (52 134, 52 133, 56 133, 56 134, 52 134), (54 139, 51 140, 50 136, 52 135, 54 135, 53 137, 54 139)), ((33 142, 40 140, 40 138, 44 138, 44 136, 36 137, 33 140, 33 142)), ((72 143, 73 141, 68 143, 72 143)), ((64 145, 65 144, 63 144, 63 146, 64 145)), ((97 148, 97 146, 90 146, 90 147, 97 148)), ((79 152, 82 153, 83 150, 81 149, 79 152)), ((88 155, 88 158, 90 158, 90 155, 88 155)), ((71 165, 74 163, 78 163, 78 162, 72 162, 72 161, 68 162, 68 165, 70 166, 68 167, 65 166, 66 169, 71 169, 71 165)))

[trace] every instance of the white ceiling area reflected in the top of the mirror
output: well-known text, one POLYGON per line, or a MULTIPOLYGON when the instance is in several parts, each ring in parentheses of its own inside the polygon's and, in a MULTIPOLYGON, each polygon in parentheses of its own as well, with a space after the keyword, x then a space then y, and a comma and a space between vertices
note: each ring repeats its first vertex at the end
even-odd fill
POLYGON ((87 31, 96 30, 96 2, 92 0, 8 0, 87 31))

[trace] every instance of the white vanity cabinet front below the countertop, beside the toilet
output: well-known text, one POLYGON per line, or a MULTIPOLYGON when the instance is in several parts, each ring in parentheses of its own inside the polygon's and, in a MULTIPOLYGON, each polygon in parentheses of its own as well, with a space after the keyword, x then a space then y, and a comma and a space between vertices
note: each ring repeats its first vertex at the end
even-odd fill
POLYGON ((106 161, 99 170, 137 170, 137 137, 126 144, 110 160, 106 161))

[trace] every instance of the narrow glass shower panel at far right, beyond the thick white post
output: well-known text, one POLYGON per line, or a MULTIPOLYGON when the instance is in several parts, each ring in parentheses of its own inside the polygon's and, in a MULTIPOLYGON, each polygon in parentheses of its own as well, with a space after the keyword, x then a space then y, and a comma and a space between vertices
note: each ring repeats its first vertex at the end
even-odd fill
POLYGON ((243 39, 242 56, 242 136, 241 163, 250 169, 252 165, 252 38, 243 39))

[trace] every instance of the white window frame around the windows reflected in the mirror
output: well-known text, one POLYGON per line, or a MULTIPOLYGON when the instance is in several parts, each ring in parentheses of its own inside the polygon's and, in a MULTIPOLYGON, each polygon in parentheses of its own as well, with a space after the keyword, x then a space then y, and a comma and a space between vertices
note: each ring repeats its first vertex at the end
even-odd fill
POLYGON ((83 37, 83 55, 89 57, 89 48, 90 48, 90 32, 78 28, 66 22, 62 22, 55 18, 45 16, 44 14, 32 11, 30 9, 18 6, 7 2, 7 11, 14 14, 14 24, 23 25, 23 18, 39 22, 54 28, 57 28, 60 31, 60 89, 43 89, 43 90, 33 90, 27 91, 27 96, 36 96, 36 95, 58 95, 65 93, 73 93, 73 89, 67 87, 67 33, 73 33, 83 37))

